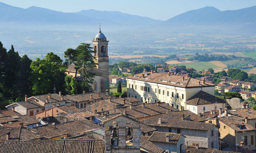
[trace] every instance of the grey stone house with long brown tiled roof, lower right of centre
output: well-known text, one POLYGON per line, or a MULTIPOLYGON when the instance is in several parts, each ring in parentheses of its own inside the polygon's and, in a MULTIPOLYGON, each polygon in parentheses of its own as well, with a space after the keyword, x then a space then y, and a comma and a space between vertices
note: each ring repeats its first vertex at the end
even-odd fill
POLYGON ((159 132, 170 132, 185 136, 185 143, 191 146, 218 148, 217 126, 211 123, 190 121, 190 115, 171 112, 142 121, 159 132))

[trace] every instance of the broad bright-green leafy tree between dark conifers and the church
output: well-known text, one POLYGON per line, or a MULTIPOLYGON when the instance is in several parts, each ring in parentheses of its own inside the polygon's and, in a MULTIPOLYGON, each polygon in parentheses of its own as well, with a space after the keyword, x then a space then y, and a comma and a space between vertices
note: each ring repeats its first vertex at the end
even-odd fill
POLYGON ((58 91, 63 89, 62 86, 65 85, 65 80, 63 77, 59 78, 59 76, 66 75, 64 71, 66 65, 63 65, 62 62, 63 61, 59 56, 51 52, 47 53, 42 60, 37 58, 31 63, 30 68, 32 69, 32 72, 30 79, 33 84, 33 94, 40 95, 52 93, 54 85, 58 91))

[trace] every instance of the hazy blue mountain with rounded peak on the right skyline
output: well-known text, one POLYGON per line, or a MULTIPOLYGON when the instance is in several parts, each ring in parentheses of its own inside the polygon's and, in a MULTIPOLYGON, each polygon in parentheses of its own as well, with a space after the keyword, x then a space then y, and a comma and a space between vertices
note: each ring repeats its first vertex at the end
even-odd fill
POLYGON ((203 7, 177 15, 166 21, 180 24, 248 24, 256 23, 256 6, 234 11, 219 11, 215 7, 203 7))

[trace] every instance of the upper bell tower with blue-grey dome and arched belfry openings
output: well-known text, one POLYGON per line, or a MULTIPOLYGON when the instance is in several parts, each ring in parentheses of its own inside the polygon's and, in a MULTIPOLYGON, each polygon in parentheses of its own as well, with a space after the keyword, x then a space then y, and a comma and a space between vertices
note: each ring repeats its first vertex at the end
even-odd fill
POLYGON ((108 44, 109 41, 99 28, 99 33, 94 37, 93 50, 96 57, 95 62, 98 63, 97 68, 102 72, 102 77, 109 78, 109 56, 108 56, 108 44))

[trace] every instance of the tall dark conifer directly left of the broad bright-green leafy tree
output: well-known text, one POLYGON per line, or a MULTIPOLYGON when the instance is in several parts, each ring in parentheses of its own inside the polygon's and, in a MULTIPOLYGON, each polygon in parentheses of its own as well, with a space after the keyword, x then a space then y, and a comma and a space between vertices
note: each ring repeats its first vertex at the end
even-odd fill
POLYGON ((31 63, 32 60, 26 54, 20 60, 20 68, 14 85, 14 98, 24 97, 25 95, 32 96, 32 82, 29 80, 31 63))

